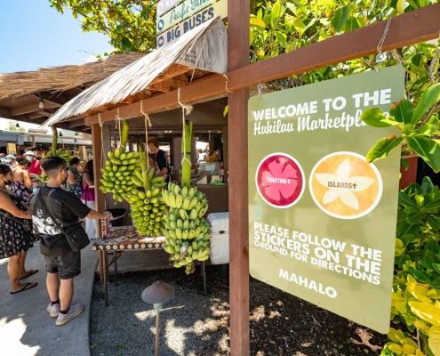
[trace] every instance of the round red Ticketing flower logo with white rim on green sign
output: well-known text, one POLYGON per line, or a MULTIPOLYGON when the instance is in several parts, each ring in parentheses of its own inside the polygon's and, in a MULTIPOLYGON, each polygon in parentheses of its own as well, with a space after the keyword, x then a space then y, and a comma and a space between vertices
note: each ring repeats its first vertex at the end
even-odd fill
POLYGON ((263 158, 255 181, 260 197, 270 206, 292 206, 304 192, 302 167, 295 158, 285 153, 273 153, 263 158))

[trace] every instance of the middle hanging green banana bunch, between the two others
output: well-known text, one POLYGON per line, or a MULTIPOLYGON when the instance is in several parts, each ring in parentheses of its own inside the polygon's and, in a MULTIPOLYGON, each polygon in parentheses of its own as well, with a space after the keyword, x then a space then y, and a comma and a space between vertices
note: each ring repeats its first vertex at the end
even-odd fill
POLYGON ((140 168, 140 172, 136 171, 136 177, 132 177, 135 187, 128 198, 132 206, 132 221, 140 235, 156 237, 164 230, 168 209, 161 194, 166 182, 163 176, 154 176, 154 168, 148 171, 147 154, 141 147, 140 168))

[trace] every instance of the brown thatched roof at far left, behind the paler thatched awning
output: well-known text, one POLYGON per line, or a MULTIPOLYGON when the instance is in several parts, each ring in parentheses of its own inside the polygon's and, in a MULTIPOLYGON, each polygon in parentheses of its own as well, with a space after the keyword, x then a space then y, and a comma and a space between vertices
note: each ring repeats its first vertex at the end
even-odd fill
POLYGON ((115 54, 106 60, 81 65, 0 74, 0 101, 33 93, 60 93, 75 87, 86 87, 100 82, 144 55, 145 53, 115 54))

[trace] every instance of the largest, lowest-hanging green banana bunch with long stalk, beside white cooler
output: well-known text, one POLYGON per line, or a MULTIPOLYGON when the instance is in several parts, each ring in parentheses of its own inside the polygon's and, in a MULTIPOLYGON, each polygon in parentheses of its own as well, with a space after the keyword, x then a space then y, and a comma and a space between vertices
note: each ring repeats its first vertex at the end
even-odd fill
MULTIPOLYGON (((182 152, 190 157, 192 123, 186 122, 185 140, 182 152)), ((191 165, 187 159, 182 163, 182 187, 168 183, 168 190, 162 191, 164 202, 170 206, 165 215, 165 251, 170 254, 173 266, 185 266, 187 274, 195 270, 195 261, 206 261, 211 253, 209 223, 204 220, 208 200, 202 191, 190 187, 191 165)))

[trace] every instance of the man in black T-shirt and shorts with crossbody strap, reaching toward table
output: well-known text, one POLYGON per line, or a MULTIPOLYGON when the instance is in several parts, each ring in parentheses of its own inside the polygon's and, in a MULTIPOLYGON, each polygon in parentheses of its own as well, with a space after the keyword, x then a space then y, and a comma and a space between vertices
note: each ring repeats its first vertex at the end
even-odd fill
POLYGON ((111 213, 103 214, 85 206, 74 194, 61 189, 61 184, 68 178, 66 163, 59 157, 42 159, 41 167, 49 178, 47 185, 40 189, 41 196, 34 195, 30 200, 34 233, 40 238, 40 251, 46 263, 46 286, 51 303, 47 312, 57 318, 55 324, 61 326, 72 320, 84 310, 81 303, 73 304, 74 278, 81 273, 81 254, 74 252, 60 231, 79 223, 79 219, 108 219, 111 213), (46 212, 40 198, 44 199, 47 209, 57 220, 46 212))

